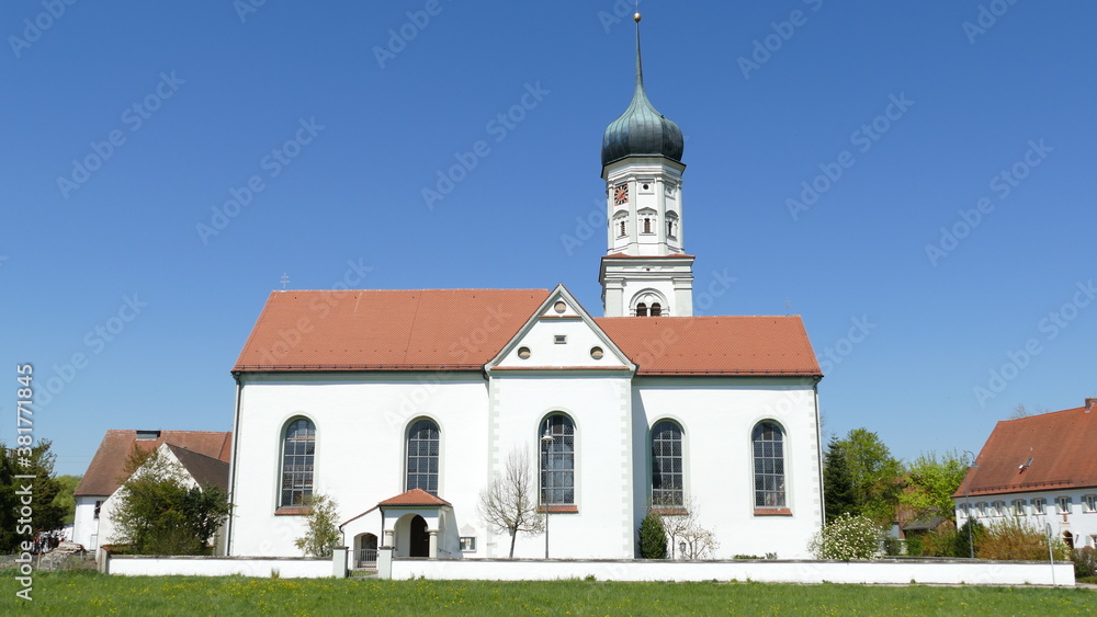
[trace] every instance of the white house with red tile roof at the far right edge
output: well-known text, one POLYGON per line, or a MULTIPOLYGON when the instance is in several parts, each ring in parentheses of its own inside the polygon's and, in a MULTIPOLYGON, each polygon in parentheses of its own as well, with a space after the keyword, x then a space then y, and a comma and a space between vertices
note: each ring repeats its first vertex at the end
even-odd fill
POLYGON ((952 495, 957 523, 1020 516, 1074 547, 1097 546, 1097 399, 1004 420, 952 495))

